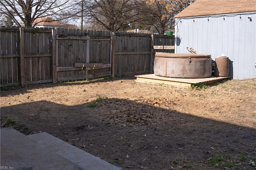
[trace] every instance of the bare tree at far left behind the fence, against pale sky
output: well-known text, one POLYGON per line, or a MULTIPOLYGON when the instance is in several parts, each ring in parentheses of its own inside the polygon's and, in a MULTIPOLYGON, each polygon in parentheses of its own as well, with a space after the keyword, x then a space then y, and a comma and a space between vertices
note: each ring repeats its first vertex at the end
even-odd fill
MULTIPOLYGON (((17 26, 36 26, 37 18, 50 16, 54 20, 70 18, 78 13, 72 0, 0 0, 0 13, 7 14, 17 26)), ((40 20, 43 22, 43 20, 40 20)))

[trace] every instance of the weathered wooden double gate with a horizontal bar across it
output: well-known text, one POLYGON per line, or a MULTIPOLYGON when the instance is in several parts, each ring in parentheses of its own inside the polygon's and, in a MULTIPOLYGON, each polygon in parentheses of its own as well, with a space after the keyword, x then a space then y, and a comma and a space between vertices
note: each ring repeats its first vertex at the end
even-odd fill
POLYGON ((57 81, 88 80, 111 75, 111 32, 56 30, 57 81))

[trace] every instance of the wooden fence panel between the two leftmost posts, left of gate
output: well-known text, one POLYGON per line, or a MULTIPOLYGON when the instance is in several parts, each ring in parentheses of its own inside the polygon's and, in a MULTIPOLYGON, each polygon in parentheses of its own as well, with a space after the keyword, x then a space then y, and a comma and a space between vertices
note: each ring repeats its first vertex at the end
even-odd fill
POLYGON ((52 82, 52 30, 24 29, 25 84, 52 82))

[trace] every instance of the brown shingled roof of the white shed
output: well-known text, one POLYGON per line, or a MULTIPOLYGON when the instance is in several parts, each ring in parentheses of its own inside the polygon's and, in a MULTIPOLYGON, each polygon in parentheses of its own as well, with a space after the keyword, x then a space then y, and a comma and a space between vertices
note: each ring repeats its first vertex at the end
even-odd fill
POLYGON ((175 18, 256 12, 256 0, 196 0, 175 18))

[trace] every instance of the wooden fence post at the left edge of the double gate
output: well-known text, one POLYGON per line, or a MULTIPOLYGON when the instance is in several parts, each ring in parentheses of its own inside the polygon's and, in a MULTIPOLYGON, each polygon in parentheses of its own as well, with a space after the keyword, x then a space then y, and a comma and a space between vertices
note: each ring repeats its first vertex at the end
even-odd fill
POLYGON ((56 30, 52 29, 52 83, 56 83, 56 30))

